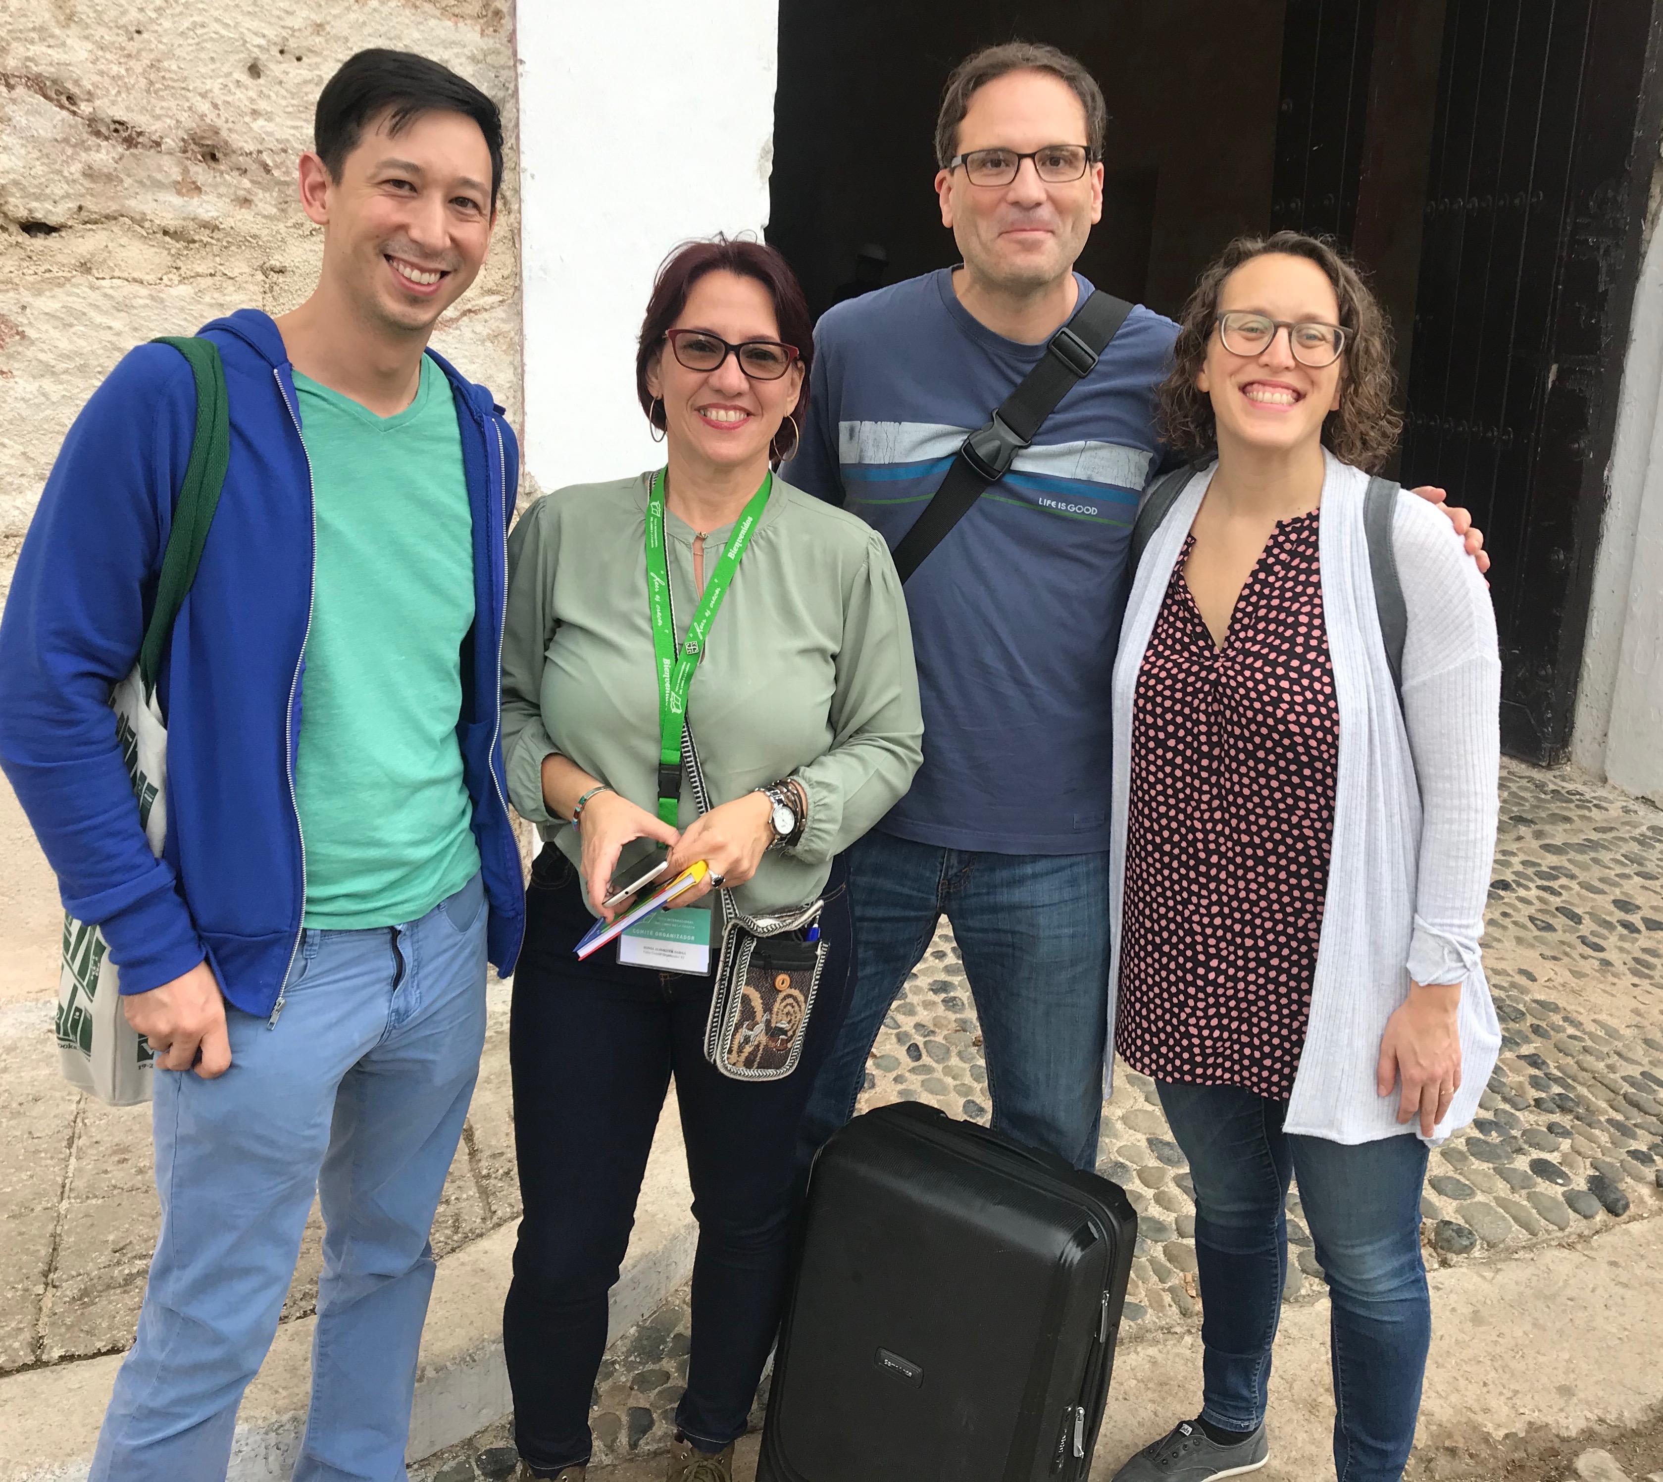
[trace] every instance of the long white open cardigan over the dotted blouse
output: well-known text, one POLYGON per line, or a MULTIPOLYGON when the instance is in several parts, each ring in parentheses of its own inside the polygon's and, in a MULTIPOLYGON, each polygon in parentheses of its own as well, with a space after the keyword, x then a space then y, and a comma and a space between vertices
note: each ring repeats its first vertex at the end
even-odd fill
MULTIPOLYGON (((1339 775, 1310 1023, 1285 1128, 1335 1143, 1415 1131, 1375 1093, 1385 1021, 1409 981, 1460 981, 1462 1083, 1432 1141, 1468 1123, 1502 1033, 1478 960, 1495 853, 1500 675, 1490 592, 1442 511, 1400 492, 1392 522, 1409 609, 1399 707, 1362 527, 1369 476, 1327 459, 1319 561, 1339 700, 1339 775), (1405 734, 1407 725, 1407 734, 1405 734)), ((1216 464, 1214 464, 1216 467, 1216 464)), ((1109 1038, 1121 975, 1133 705, 1149 634, 1212 472, 1189 481, 1142 554, 1114 665, 1109 1038)), ((1108 1056, 1113 1083, 1114 1055, 1108 1056)))

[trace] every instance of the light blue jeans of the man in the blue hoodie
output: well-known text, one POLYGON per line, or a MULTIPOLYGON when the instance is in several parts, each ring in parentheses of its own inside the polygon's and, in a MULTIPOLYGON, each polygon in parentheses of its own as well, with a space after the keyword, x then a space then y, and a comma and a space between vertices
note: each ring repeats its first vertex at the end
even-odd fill
POLYGON ((218 1482, 278 1329, 313 1191, 324 1218, 296 1482, 396 1482, 427 1244, 486 1040, 486 892, 419 921, 304 931, 276 1023, 226 1006, 231 1070, 156 1071, 161 1236, 90 1482, 218 1482))

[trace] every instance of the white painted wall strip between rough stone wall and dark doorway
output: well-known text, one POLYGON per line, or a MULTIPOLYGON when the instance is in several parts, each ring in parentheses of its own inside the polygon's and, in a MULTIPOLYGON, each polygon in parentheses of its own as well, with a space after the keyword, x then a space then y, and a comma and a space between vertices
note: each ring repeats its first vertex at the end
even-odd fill
POLYGON ((778 0, 519 0, 526 462, 657 466, 635 336, 665 254, 768 220, 778 0))

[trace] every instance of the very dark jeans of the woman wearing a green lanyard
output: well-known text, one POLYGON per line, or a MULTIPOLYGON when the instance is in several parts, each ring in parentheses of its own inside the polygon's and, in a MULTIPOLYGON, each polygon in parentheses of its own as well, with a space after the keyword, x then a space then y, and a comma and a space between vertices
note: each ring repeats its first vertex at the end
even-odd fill
POLYGON ((526 892, 509 1063, 524 1216, 502 1312, 514 1440, 539 1475, 587 1462, 589 1399, 607 1346, 607 1292, 629 1247, 665 1089, 675 1094, 698 1221, 687 1392, 675 1419, 700 1450, 745 1434, 790 1274, 792 1149, 836 1038, 853 926, 840 862, 820 930, 830 943, 803 1055, 783 1081, 720 1074, 703 1053, 710 976, 572 955, 592 925, 552 845, 526 892))

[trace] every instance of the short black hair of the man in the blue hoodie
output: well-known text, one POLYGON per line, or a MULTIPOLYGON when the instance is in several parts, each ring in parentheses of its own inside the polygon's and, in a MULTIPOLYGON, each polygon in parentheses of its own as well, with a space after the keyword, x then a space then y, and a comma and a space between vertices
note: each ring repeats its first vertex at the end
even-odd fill
POLYGON ((491 150, 491 210, 502 188, 502 113, 466 77, 457 77, 414 52, 373 47, 341 63, 318 95, 313 148, 331 180, 341 178, 346 156, 364 130, 387 115, 387 133, 402 133, 424 113, 464 113, 479 125, 491 150))

